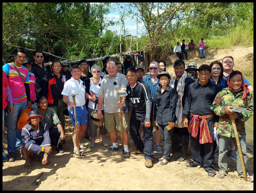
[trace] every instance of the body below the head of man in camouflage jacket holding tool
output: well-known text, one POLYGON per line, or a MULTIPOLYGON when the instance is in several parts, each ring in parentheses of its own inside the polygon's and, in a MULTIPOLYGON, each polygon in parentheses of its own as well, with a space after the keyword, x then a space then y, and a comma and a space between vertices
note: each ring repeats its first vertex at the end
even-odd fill
MULTIPOLYGON (((227 108, 230 106, 233 107, 246 107, 247 109, 238 113, 237 118, 235 119, 235 124, 238 132, 238 137, 239 141, 241 144, 241 149, 242 149, 242 155, 244 159, 244 165, 246 169, 246 163, 247 163, 247 153, 246 153, 246 133, 245 133, 245 121, 249 119, 251 115, 253 115, 253 101, 252 101, 252 93, 247 92, 245 95, 245 100, 242 100, 242 95, 243 91, 233 93, 229 90, 228 88, 224 88, 221 90, 215 97, 211 110, 219 117, 219 123, 218 123, 218 128, 217 132, 219 134, 219 173, 217 174, 217 177, 223 178, 225 175, 228 174, 228 160, 227 160, 227 146, 232 139, 232 141, 235 144, 235 149, 236 149, 236 167, 237 167, 237 172, 238 176, 242 177, 243 172, 242 172, 242 166, 240 162, 240 157, 239 153, 237 150, 237 145, 236 145, 236 140, 235 140, 235 135, 234 135, 234 130, 232 128, 232 122, 230 115, 228 115, 227 108)), ((228 109, 229 110, 229 109, 228 109)), ((235 113, 232 113, 235 114, 235 113)), ((247 175, 247 180, 248 181, 253 181, 253 178, 247 175), (252 179, 251 179, 252 178, 252 179)))

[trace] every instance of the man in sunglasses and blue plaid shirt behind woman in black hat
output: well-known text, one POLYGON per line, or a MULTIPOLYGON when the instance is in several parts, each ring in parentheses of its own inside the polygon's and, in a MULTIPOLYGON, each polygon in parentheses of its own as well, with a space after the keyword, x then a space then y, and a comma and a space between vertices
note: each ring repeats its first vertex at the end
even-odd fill
MULTIPOLYGON (((150 92, 151 92, 151 98, 152 101, 154 101, 154 97, 155 97, 155 92, 156 90, 159 88, 159 80, 157 78, 158 72, 159 72, 159 64, 156 61, 152 61, 150 66, 149 66, 149 72, 150 75, 144 77, 142 79, 143 82, 146 82, 149 87, 150 87, 150 92)), ((155 113, 155 104, 154 102, 152 103, 152 112, 151 113, 155 113)), ((155 121, 153 121, 154 123, 155 121)), ((163 153, 163 151, 161 150, 160 147, 160 141, 161 141, 161 133, 158 130, 158 127, 156 128, 156 150, 157 153, 163 153)))

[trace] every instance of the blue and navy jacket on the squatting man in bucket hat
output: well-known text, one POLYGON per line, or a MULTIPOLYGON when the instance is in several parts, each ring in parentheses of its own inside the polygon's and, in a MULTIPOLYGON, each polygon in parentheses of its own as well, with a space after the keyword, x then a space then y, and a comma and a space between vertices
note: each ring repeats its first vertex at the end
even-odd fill
MULTIPOLYGON (((22 128, 22 141, 26 149, 39 155, 43 147, 51 146, 49 128, 46 123, 40 121, 38 133, 33 129, 31 123, 22 128)), ((47 153, 44 153, 48 155, 47 153)))

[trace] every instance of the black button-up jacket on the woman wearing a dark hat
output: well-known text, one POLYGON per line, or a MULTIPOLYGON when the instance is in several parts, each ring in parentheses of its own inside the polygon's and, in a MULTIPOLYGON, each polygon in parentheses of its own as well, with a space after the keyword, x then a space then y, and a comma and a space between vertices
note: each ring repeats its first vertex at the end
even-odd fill
POLYGON ((161 88, 160 85, 155 92, 155 120, 161 125, 168 125, 168 122, 175 123, 177 120, 175 111, 179 99, 178 92, 168 85, 161 94, 161 88))

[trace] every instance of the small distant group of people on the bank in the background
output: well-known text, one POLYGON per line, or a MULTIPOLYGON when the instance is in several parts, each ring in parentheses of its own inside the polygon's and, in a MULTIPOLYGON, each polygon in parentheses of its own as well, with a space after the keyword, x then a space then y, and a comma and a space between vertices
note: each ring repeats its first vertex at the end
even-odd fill
MULTIPOLYGON (((204 58, 205 59, 205 42, 204 39, 201 39, 201 42, 199 42, 198 44, 198 50, 200 53, 200 59, 204 58)), ((184 54, 186 57, 186 60, 188 60, 188 53, 187 53, 187 49, 189 49, 189 51, 194 50, 196 48, 196 44, 194 43, 193 40, 190 41, 190 43, 187 45, 185 43, 185 40, 182 40, 182 43, 180 44, 180 42, 177 42, 177 45, 174 47, 173 52, 177 54, 177 56, 179 57, 180 60, 184 60, 184 54)))

